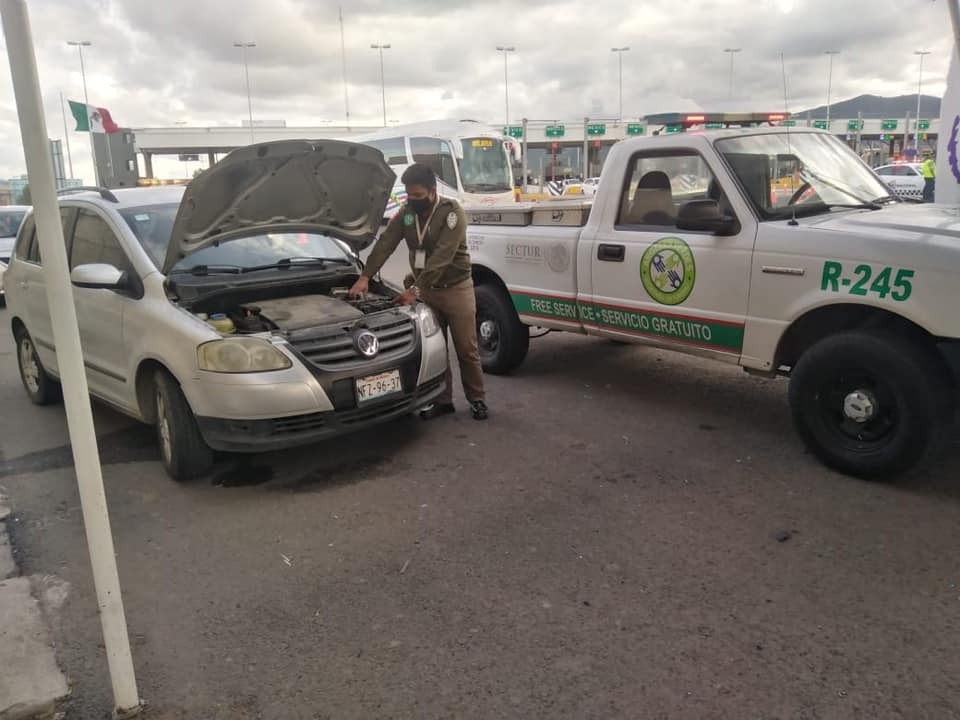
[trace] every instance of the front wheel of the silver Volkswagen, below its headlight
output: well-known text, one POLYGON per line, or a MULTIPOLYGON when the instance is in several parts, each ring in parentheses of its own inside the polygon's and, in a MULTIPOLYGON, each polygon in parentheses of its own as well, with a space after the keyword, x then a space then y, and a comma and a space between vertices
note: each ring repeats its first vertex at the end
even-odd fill
POLYGON ((167 473, 178 482, 201 477, 213 466, 213 451, 203 441, 180 385, 164 371, 154 376, 157 444, 167 473))

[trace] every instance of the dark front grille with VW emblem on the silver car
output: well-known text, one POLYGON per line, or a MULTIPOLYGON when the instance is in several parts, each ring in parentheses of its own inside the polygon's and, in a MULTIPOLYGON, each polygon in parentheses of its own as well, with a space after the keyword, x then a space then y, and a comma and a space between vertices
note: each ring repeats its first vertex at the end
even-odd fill
MULTIPOLYGON (((388 313, 381 317, 368 316, 361 326, 380 341, 380 352, 375 359, 403 355, 414 346, 416 325, 406 315, 388 313)), ((334 328, 323 334, 290 338, 290 344, 310 363, 325 369, 348 367, 358 362, 369 362, 353 344, 354 327, 334 328)))

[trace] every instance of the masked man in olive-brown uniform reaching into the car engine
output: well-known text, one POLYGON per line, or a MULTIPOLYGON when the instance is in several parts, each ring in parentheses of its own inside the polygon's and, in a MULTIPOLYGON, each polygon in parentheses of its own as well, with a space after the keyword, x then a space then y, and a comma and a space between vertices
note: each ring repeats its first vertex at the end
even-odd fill
MULTIPOLYGON (((437 315, 444 338, 449 328, 460 361, 460 377, 470 414, 474 420, 486 420, 488 411, 477 347, 477 306, 467 252, 466 215, 455 200, 437 194, 437 177, 426 165, 414 163, 400 180, 406 186, 407 201, 380 235, 350 294, 358 296, 367 292, 370 278, 380 271, 400 241, 405 240, 413 273, 407 276, 404 283, 407 289, 397 302, 412 305, 422 300, 437 315)), ((454 412, 449 364, 446 386, 438 402, 421 411, 422 418, 429 420, 454 412)))

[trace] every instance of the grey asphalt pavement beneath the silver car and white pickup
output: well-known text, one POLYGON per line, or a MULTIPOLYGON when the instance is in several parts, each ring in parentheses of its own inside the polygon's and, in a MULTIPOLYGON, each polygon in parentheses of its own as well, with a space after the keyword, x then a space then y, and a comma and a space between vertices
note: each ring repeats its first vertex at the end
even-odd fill
MULTIPOLYGON (((62 408, 0 311, 0 492, 73 686, 110 683, 62 408)), ((785 383, 551 334, 460 411, 166 477, 95 415, 150 718, 960 717, 960 445, 825 470, 785 383)))

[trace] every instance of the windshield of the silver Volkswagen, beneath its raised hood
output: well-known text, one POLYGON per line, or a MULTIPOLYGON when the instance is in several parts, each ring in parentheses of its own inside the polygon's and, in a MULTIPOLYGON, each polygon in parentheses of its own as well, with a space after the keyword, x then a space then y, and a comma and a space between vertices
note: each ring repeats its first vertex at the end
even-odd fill
POLYGON ((350 262, 347 250, 336 239, 312 233, 271 233, 230 240, 190 253, 173 266, 171 274, 194 268, 244 271, 298 261, 322 259, 350 262), (300 260, 302 259, 302 260, 300 260))

